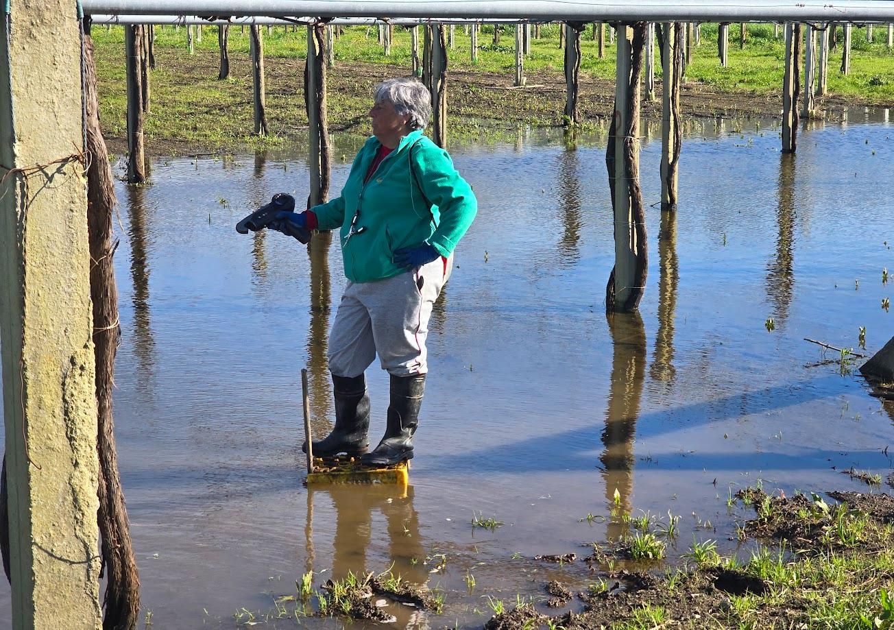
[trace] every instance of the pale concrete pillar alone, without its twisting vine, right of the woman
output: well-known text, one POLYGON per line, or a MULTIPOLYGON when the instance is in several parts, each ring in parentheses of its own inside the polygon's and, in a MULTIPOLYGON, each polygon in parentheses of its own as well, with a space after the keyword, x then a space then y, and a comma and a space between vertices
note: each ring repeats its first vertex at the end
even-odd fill
POLYGON ((630 94, 630 66, 633 29, 629 24, 618 23, 617 75, 615 79, 614 129, 614 300, 616 305, 628 301, 631 289, 637 286, 637 254, 634 249, 635 231, 631 218, 630 181, 625 168, 625 130, 629 125, 628 102, 630 94))

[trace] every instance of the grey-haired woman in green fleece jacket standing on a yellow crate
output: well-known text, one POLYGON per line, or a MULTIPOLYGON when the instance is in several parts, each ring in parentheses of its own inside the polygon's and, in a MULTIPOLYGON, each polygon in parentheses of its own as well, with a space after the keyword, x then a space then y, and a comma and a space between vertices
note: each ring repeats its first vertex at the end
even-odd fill
POLYGON ((477 212, 450 155, 422 134, 430 114, 428 90, 417 80, 376 86, 369 112, 375 136, 354 158, 342 195, 304 213, 281 213, 272 225, 287 234, 341 228, 348 284, 329 335, 335 427, 314 441, 315 455, 363 455, 374 465, 413 457, 428 318, 477 212), (391 374, 391 404, 384 438, 367 453, 364 371, 376 353, 391 374))

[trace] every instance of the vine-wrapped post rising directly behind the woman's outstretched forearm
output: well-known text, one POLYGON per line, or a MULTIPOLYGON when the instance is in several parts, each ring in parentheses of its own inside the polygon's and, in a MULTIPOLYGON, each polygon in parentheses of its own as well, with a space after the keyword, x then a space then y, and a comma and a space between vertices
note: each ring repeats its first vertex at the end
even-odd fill
POLYGON ((305 105, 308 112, 308 170, 310 192, 308 207, 329 196, 331 151, 326 116, 325 27, 308 24, 308 59, 305 63, 305 105))

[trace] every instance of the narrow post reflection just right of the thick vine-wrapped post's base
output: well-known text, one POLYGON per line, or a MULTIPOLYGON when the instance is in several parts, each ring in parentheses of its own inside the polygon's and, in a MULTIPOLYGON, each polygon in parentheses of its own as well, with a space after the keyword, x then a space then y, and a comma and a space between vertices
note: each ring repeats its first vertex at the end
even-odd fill
POLYGON ((677 311, 679 263, 677 259, 677 214, 663 211, 658 230, 658 259, 661 278, 658 281, 658 332, 649 374, 655 381, 671 384, 677 374, 673 365, 674 318, 677 311))

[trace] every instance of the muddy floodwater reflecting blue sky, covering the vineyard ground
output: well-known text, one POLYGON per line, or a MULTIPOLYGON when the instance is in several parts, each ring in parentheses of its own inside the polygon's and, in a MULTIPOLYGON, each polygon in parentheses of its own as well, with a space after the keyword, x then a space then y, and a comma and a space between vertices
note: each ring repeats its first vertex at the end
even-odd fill
MULTIPOLYGON (((233 230, 274 192, 306 194, 298 152, 161 160, 152 185, 119 185, 118 448, 155 627, 232 627, 249 620, 240 609, 265 620, 308 570, 318 586, 389 567, 445 597, 443 617, 392 607, 399 626, 480 626, 487 596, 544 601, 550 577, 585 588, 579 561, 530 558, 623 535, 603 519, 615 501, 679 515, 679 558, 694 537, 735 549, 746 513, 726 500, 746 484, 860 490, 839 471, 886 476, 894 409, 804 340, 856 347, 865 326, 871 353, 894 334, 881 309, 894 293, 881 282, 894 271, 894 128, 883 112, 848 118, 803 131, 793 156, 772 122, 690 130, 676 220, 647 212, 636 315, 604 312, 604 137, 570 148, 522 131, 453 148, 480 211, 434 311, 406 493, 301 483, 301 367, 316 433, 332 413, 338 246, 233 230), (473 528, 477 515, 503 525, 473 528)), ((656 132, 643 139, 647 204, 660 201, 656 132)), ((336 188, 355 150, 335 152, 336 188)), ((375 442, 387 378, 377 365, 367 376, 375 442)))

